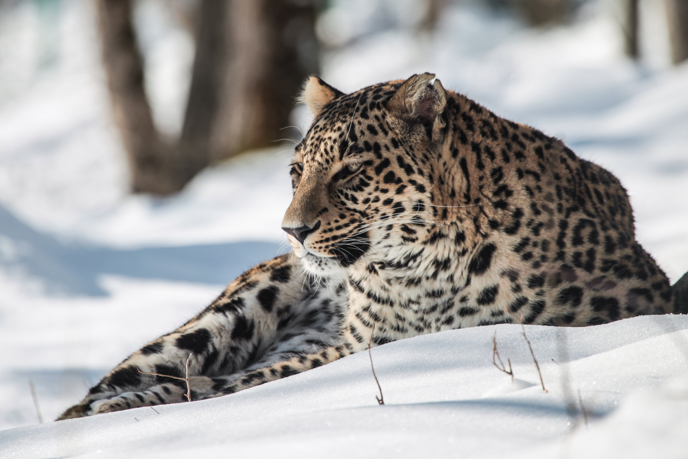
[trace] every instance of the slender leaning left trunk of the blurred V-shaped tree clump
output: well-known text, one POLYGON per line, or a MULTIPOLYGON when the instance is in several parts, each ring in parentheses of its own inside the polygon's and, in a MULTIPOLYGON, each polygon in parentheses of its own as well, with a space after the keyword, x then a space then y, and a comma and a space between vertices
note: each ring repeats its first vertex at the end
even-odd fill
POLYGON ((144 91, 141 55, 131 26, 131 1, 98 0, 98 25, 114 120, 131 171, 131 190, 170 194, 178 190, 177 165, 160 140, 144 91))

